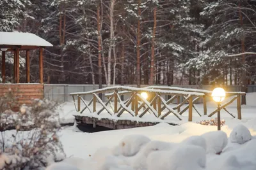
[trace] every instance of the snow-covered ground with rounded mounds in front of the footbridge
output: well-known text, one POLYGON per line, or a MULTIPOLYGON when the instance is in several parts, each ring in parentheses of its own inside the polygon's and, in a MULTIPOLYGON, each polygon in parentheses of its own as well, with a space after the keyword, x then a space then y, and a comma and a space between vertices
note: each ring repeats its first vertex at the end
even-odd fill
MULTIPOLYGON (((60 138, 68 158, 65 164, 54 164, 49 169, 256 169, 255 98, 256 93, 247 94, 242 120, 221 111, 226 125, 218 132, 216 126, 196 124, 209 118, 198 117, 195 112, 193 122, 187 122, 188 115, 184 113, 179 126, 162 123, 95 133, 63 127, 60 138)), ((196 106, 202 113, 202 104, 196 106)), ((214 107, 214 103, 208 103, 207 109, 211 111, 214 107)), ((236 113, 236 103, 227 109, 236 113)), ((59 113, 61 122, 74 121, 74 104, 63 104, 59 113)))

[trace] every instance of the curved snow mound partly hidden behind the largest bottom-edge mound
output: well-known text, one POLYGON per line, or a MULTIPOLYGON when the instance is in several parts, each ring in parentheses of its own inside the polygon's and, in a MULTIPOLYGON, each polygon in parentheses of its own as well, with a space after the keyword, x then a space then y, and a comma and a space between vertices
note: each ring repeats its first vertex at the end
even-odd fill
POLYGON ((163 141, 150 141, 131 160, 131 167, 136 170, 147 169, 147 157, 151 152, 161 150, 172 150, 178 144, 163 141))

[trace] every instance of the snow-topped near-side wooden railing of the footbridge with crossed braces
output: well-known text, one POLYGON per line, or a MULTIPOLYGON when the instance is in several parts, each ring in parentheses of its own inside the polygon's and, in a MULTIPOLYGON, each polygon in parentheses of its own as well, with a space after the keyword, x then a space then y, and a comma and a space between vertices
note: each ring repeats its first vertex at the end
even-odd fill
MULTIPOLYGON (((89 92, 76 92, 71 93, 70 96, 74 99, 74 104, 76 110, 80 113, 83 113, 85 110, 88 110, 90 113, 97 113, 99 115, 102 111, 106 110, 109 115, 115 115, 116 117, 120 117, 124 111, 127 111, 132 117, 143 117, 147 113, 151 113, 155 115, 157 118, 164 119, 170 114, 175 115, 179 120, 182 120, 180 115, 188 110, 189 113, 189 121, 192 121, 192 111, 193 108, 196 110, 194 104, 200 99, 200 97, 204 97, 204 93, 199 92, 181 92, 177 90, 159 90, 159 89, 149 89, 149 88, 136 88, 136 87, 124 87, 124 86, 116 86, 116 87, 106 87, 104 89, 92 90, 89 92), (127 94, 131 94, 129 99, 126 101, 122 101, 122 97, 120 97, 120 92, 126 91, 127 94), (104 103, 102 99, 100 99, 99 94, 111 92, 108 97, 108 101, 104 103), (141 96, 141 92, 147 92, 149 99, 144 99, 141 96), (86 103, 82 96, 92 95, 92 99, 86 103), (173 96, 171 99, 167 101, 162 97, 163 95, 173 96), (77 96, 77 104, 75 97, 77 96), (176 97, 185 97, 182 103, 177 103, 177 106, 171 107, 170 103, 176 97), (81 110, 81 101, 84 103, 84 108, 81 110), (111 102, 113 101, 113 105, 111 106, 111 102), (96 108, 96 103, 102 105, 100 110, 96 108), (181 109, 184 104, 188 102, 188 106, 181 109), (93 109, 90 110, 90 105, 93 104, 93 109), (110 108, 108 107, 110 106, 110 108)), ((200 113, 196 110, 198 115, 200 113)), ((201 116, 201 115, 200 115, 201 116)))

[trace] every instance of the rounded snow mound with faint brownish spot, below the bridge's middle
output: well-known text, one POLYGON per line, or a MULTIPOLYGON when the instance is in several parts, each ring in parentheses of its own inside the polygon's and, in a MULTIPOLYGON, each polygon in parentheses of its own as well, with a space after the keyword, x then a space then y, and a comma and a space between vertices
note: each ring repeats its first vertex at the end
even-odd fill
POLYGON ((133 134, 125 136, 119 143, 120 153, 125 157, 134 156, 149 141, 150 139, 143 135, 133 134))

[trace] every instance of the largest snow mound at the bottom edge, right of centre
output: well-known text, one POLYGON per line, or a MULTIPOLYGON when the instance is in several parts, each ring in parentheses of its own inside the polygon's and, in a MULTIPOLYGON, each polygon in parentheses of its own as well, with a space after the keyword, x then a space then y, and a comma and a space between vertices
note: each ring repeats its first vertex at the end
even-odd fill
POLYGON ((180 145, 172 151, 152 152, 147 158, 148 170, 201 170, 205 164, 204 148, 193 145, 180 145))

